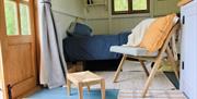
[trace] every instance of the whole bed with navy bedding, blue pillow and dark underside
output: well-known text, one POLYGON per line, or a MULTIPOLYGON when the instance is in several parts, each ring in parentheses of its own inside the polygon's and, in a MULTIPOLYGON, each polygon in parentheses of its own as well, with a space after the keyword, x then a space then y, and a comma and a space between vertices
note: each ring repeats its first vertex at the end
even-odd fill
POLYGON ((131 32, 126 30, 117 35, 92 33, 92 28, 85 24, 71 23, 67 30, 68 37, 62 41, 67 63, 82 62, 83 70, 90 71, 116 70, 121 54, 109 52, 109 47, 126 44, 131 32))

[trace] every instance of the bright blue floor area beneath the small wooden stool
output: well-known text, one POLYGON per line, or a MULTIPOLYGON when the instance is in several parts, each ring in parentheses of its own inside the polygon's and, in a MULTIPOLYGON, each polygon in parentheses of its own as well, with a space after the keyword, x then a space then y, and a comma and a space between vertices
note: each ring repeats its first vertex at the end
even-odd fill
MULTIPOLYGON (((106 89, 106 99, 117 99, 117 89, 106 89)), ((43 89, 25 99, 79 99, 79 96, 77 89, 71 89, 71 95, 67 96, 66 88, 60 87, 55 89, 43 89)), ((84 89, 83 99, 101 99, 101 90, 91 89, 89 94, 88 90, 84 89)))

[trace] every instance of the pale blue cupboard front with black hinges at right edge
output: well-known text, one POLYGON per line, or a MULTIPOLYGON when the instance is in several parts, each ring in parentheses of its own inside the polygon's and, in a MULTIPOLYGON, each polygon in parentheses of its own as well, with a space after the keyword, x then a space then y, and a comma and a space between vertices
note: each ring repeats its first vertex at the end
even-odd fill
POLYGON ((197 99, 197 1, 182 7, 181 90, 188 99, 197 99))

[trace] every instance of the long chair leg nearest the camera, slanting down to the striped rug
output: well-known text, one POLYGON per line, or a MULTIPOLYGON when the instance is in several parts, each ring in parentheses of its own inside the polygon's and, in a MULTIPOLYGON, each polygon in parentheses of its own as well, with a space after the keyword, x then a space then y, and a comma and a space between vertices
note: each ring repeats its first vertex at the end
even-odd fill
POLYGON ((150 84, 152 83, 152 79, 154 78, 154 75, 155 75, 155 73, 157 73, 157 71, 158 71, 158 69, 160 66, 160 63, 161 63, 161 59, 159 58, 154 62, 153 69, 151 70, 151 73, 150 73, 150 75, 149 75, 149 77, 148 77, 148 79, 146 82, 146 85, 144 85, 143 90, 142 90, 142 98, 146 97, 147 91, 148 91, 148 89, 150 87, 150 84))

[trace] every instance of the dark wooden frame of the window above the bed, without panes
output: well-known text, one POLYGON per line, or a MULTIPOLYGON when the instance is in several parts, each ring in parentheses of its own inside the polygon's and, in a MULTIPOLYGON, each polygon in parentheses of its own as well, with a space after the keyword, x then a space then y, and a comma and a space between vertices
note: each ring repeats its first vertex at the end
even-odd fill
POLYGON ((128 11, 115 11, 114 0, 112 0, 112 14, 139 14, 139 13, 150 13, 150 0, 147 0, 147 10, 132 10, 132 0, 128 0, 128 11))

